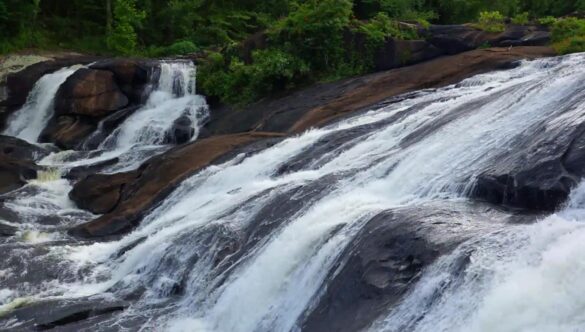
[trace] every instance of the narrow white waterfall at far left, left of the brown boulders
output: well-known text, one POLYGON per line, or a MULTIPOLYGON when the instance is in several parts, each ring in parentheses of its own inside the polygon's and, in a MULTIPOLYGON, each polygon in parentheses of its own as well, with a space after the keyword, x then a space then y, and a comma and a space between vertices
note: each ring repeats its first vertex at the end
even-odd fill
POLYGON ((44 75, 34 85, 24 106, 8 118, 3 134, 36 143, 53 116, 54 100, 61 84, 79 68, 63 68, 44 75))

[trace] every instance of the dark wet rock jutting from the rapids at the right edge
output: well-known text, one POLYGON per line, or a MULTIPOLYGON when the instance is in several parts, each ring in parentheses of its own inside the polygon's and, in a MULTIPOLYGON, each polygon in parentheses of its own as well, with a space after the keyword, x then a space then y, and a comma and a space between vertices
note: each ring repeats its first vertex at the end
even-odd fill
MULTIPOLYGON (((570 101, 568 101, 570 102, 570 101)), ((477 179, 473 197, 516 208, 554 211, 585 176, 585 125, 532 128, 477 179)))

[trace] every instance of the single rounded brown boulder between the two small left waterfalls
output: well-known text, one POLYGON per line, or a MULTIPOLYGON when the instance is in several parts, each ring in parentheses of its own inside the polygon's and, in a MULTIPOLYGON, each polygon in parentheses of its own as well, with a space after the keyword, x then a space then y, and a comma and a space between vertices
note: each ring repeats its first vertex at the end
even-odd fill
POLYGON ((85 115, 103 117, 128 105, 114 80, 106 70, 79 69, 61 85, 57 92, 57 115, 85 115))

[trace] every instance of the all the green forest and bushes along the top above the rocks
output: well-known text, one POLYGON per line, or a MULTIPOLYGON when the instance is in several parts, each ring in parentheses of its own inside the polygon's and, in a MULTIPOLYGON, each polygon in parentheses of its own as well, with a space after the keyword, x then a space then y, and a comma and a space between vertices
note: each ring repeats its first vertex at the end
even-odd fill
POLYGON ((585 0, 0 0, 0 53, 204 54, 199 88, 245 104, 368 72, 387 38, 420 38, 403 22, 479 22, 497 32, 505 17, 531 20, 560 26, 556 42, 566 50, 585 49, 585 21, 555 18, 582 10, 585 0), (356 38, 359 47, 348 47, 356 38), (250 40, 263 46, 242 54, 250 40))

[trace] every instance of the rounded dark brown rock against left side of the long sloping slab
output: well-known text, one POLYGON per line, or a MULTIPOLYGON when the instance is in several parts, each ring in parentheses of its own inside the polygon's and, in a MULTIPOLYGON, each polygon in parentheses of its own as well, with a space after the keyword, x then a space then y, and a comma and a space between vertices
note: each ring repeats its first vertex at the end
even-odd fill
POLYGON ((92 213, 108 213, 118 205, 124 185, 135 180, 136 175, 136 172, 89 175, 75 184, 69 198, 92 213))

